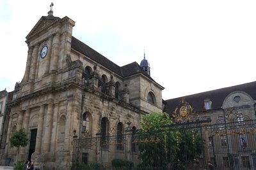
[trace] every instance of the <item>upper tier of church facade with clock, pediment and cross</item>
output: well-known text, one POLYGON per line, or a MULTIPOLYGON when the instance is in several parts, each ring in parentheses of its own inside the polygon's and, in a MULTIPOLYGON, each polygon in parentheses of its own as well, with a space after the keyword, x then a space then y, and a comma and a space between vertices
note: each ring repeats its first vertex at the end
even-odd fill
POLYGON ((75 22, 68 17, 54 17, 53 5, 51 3, 48 15, 41 17, 26 36, 28 58, 22 82, 25 85, 23 92, 54 83, 54 76, 67 65, 65 60, 70 55, 75 22), (40 83, 36 87, 37 82, 40 83))

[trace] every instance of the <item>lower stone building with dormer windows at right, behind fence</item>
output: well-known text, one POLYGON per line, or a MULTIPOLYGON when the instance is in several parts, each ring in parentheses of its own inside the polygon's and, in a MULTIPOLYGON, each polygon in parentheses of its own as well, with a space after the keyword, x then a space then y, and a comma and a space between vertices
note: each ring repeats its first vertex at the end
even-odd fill
POLYGON ((256 81, 165 101, 164 111, 193 115, 205 141, 202 162, 217 169, 256 168, 256 81), (208 122, 208 121, 206 121, 208 122))

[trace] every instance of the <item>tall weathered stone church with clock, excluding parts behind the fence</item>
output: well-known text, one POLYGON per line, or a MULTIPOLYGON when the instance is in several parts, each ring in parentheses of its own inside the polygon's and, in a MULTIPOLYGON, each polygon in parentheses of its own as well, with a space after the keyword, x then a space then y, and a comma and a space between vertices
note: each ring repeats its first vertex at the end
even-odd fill
POLYGON ((74 136, 140 128, 143 115, 162 111, 164 88, 150 77, 145 57, 143 67, 117 66, 72 36, 73 20, 52 13, 51 8, 26 36, 26 71, 8 104, 3 157, 12 163, 31 159, 40 169, 70 169, 74 136), (21 128, 29 145, 12 148, 9 140, 21 128))

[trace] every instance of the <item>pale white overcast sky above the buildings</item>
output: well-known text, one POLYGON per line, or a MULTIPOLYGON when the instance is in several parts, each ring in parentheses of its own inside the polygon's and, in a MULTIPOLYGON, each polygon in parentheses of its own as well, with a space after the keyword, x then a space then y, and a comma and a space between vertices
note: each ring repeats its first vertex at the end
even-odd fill
POLYGON ((256 1, 0 0, 0 90, 24 76, 26 36, 51 2, 76 22, 73 36, 118 66, 145 49, 163 99, 255 81, 256 1))

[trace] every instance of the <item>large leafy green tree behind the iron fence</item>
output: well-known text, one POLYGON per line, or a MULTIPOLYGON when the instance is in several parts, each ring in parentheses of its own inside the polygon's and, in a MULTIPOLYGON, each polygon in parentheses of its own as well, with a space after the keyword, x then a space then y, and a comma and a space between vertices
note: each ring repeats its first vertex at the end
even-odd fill
POLYGON ((203 149, 199 132, 182 126, 171 130, 162 125, 173 125, 166 113, 151 113, 141 120, 141 130, 135 136, 140 167, 168 169, 170 162, 179 167, 195 162, 203 149))

